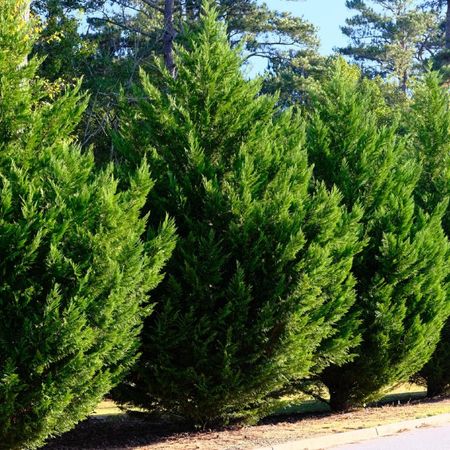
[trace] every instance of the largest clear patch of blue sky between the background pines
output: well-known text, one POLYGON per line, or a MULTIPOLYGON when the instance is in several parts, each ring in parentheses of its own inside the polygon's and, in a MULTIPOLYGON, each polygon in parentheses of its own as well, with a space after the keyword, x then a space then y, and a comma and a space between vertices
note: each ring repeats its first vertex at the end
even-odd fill
POLYGON ((265 0, 268 6, 303 16, 318 28, 321 53, 330 54, 334 47, 344 46, 346 38, 340 30, 349 10, 345 0, 265 0))

